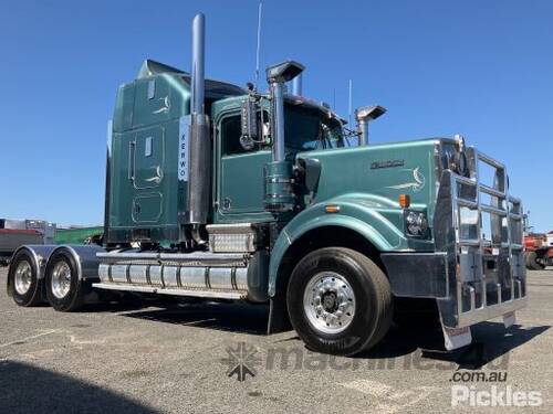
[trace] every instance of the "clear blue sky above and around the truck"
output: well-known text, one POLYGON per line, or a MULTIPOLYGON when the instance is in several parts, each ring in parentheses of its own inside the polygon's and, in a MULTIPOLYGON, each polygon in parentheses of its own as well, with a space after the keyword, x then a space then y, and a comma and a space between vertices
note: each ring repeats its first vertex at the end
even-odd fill
MULTIPOLYGON (((146 57, 188 70, 197 11, 207 75, 251 81, 258 1, 1 1, 0 216, 103 221, 116 88, 146 57)), ((352 78, 354 106, 388 108, 373 142, 463 134, 507 163, 536 230, 553 230, 552 1, 265 0, 263 11, 262 68, 304 63, 305 95, 343 116, 352 78)))

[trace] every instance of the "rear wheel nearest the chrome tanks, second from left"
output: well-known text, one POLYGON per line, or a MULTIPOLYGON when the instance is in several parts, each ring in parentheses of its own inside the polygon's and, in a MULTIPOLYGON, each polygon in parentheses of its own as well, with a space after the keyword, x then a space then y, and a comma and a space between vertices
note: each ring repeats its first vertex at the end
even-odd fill
POLYGON ((86 280, 80 280, 75 259, 64 251, 55 252, 50 257, 44 285, 50 305, 63 312, 77 310, 90 293, 86 280))

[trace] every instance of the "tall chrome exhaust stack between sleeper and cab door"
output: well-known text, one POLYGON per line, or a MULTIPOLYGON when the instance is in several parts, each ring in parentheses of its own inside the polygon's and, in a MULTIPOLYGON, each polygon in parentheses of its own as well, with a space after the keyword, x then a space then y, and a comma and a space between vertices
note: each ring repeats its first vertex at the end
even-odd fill
POLYGON ((209 119, 205 108, 206 18, 198 13, 192 21, 192 62, 190 71, 190 160, 188 177, 187 222, 192 237, 200 244, 200 225, 207 223, 211 197, 211 144, 209 119))

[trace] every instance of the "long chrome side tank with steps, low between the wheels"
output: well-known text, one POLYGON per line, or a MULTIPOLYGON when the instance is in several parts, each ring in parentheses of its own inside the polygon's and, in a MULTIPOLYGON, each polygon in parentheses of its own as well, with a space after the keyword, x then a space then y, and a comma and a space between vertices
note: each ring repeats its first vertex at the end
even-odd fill
POLYGON ((178 296, 265 301, 268 256, 255 254, 100 253, 94 287, 178 296))

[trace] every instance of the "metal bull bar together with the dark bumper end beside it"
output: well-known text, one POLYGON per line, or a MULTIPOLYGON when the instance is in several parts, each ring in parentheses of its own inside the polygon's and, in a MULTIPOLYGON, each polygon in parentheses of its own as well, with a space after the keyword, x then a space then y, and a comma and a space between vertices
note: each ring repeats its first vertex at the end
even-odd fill
POLYGON ((467 149, 470 178, 445 170, 434 221, 435 253, 382 255, 394 295, 436 298, 445 329, 467 328, 526 305, 521 201, 502 163, 467 149), (493 184, 479 180, 491 167, 493 184), (486 220, 489 219, 489 220, 486 220))

